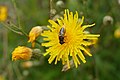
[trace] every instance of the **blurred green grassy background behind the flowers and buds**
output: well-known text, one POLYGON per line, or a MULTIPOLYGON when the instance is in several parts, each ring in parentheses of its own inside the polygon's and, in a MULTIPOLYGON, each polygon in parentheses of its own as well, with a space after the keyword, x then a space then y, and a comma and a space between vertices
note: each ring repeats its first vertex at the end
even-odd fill
MULTIPOLYGON (((77 69, 62 72, 62 65, 48 64, 48 57, 39 60, 11 61, 11 53, 19 45, 30 46, 25 36, 15 34, 0 24, 0 80, 120 80, 120 0, 0 0, 0 6, 8 8, 8 20, 20 24, 26 33, 34 26, 46 26, 49 18, 62 15, 64 9, 85 16, 84 24, 96 23, 89 29, 99 33, 98 43, 91 48, 93 57, 86 56, 87 63, 77 69), (27 65, 27 66, 26 66, 27 65)), ((39 45, 36 48, 40 48, 39 45)), ((41 50, 44 50, 41 47, 41 50)))

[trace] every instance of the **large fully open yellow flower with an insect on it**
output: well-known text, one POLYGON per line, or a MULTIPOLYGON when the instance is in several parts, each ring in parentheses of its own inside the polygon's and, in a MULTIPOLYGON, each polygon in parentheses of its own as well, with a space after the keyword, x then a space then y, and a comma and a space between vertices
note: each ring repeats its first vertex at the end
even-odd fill
POLYGON ((62 60, 62 64, 67 64, 68 68, 70 68, 69 60, 72 58, 77 68, 80 64, 79 58, 83 63, 86 62, 82 51, 92 56, 85 47, 92 45, 92 40, 98 39, 100 35, 84 33, 87 27, 94 26, 95 24, 82 26, 83 20, 84 17, 82 17, 81 21, 78 20, 77 11, 73 15, 69 10, 65 10, 64 17, 57 19, 58 24, 53 20, 49 20, 51 26, 48 25, 47 27, 50 30, 44 31, 41 34, 44 36, 44 40, 47 41, 42 43, 42 46, 49 47, 44 54, 44 56, 50 55, 49 63, 55 60, 55 64, 57 64, 57 61, 62 60))

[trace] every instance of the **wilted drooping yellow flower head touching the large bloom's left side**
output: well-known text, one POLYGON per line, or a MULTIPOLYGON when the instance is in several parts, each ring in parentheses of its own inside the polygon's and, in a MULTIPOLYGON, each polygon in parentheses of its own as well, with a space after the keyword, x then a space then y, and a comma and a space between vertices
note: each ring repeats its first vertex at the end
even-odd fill
POLYGON ((41 34, 42 30, 43 29, 40 26, 36 26, 36 27, 33 27, 31 29, 31 31, 29 33, 29 40, 28 40, 28 42, 32 43, 32 47, 35 46, 35 40, 41 34))

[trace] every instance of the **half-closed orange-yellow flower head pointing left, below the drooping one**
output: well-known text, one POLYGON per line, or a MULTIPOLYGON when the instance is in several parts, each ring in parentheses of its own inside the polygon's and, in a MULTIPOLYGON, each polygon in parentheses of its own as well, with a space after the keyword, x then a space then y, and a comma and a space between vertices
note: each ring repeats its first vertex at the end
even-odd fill
POLYGON ((25 46, 18 46, 12 52, 12 61, 16 60, 30 60, 32 56, 32 49, 25 46))

